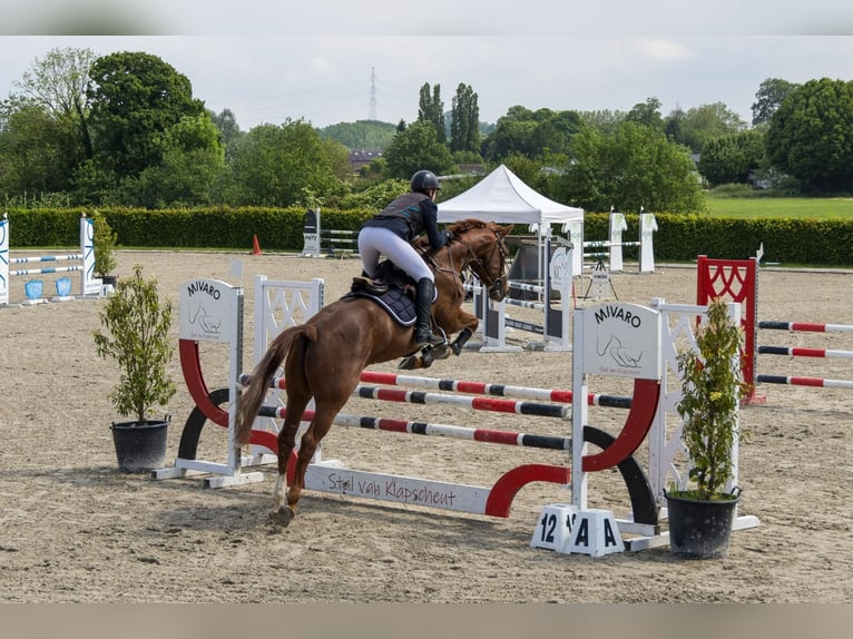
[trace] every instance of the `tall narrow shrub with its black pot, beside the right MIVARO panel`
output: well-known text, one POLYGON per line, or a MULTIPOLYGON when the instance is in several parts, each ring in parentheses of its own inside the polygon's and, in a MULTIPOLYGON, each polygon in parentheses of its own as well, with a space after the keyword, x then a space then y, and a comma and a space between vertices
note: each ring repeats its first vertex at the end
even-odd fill
POLYGON ((675 554, 717 558, 728 549, 741 489, 727 484, 738 438, 737 409, 748 391, 741 376, 743 345, 742 326, 729 318, 727 304, 715 298, 707 323, 697 328, 698 354, 687 350, 677 357, 682 399, 676 410, 683 419, 689 483, 665 492, 675 554))

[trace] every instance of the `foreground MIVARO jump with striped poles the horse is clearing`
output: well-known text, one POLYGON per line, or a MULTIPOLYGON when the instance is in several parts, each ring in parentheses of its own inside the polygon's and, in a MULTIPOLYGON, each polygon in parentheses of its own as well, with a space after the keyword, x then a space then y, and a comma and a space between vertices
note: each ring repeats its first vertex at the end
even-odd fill
MULTIPOLYGON (((256 353, 263 354, 265 346, 258 344, 272 338, 285 324, 296 323, 297 315, 316 312, 322 302, 322 281, 312 283, 269 282, 259 277, 256 283, 255 308, 259 314, 255 322, 256 353), (284 311, 284 320, 274 317, 276 311, 284 311), (292 316, 291 316, 292 314, 292 316)), ((252 431, 249 443, 252 454, 242 455, 234 445, 234 413, 238 397, 238 368, 242 364, 242 303, 243 289, 224 282, 202 279, 182 286, 179 296, 180 315, 180 361, 187 387, 196 402, 190 419, 180 439, 180 449, 174 468, 159 469, 153 475, 157 479, 205 473, 208 488, 261 481, 262 473, 243 472, 244 466, 271 463, 271 454, 277 448, 275 420, 284 415, 281 402, 262 407, 258 423, 252 431), (199 320, 200 317, 204 321, 199 320), (219 342, 229 345, 229 386, 210 392, 206 385, 198 356, 198 343, 219 342), (223 410, 220 404, 228 404, 223 410), (195 459, 198 438, 205 420, 228 429, 228 461, 208 462, 195 459)), ((686 483, 686 472, 676 470, 674 459, 683 451, 680 427, 667 431, 666 415, 673 413, 673 396, 665 393, 667 365, 675 366, 675 338, 683 333, 692 335, 690 322, 706 307, 667 305, 654 301, 654 308, 633 304, 614 303, 590 306, 575 314, 572 391, 529 389, 501 384, 431 380, 388 373, 365 371, 362 382, 379 384, 410 384, 421 387, 438 387, 448 392, 468 392, 489 395, 520 395, 542 401, 559 401, 562 405, 540 406, 530 402, 492 400, 490 397, 445 397, 438 393, 418 393, 396 389, 378 390, 363 385, 356 390, 360 397, 405 401, 409 403, 447 403, 478 406, 477 410, 527 413, 538 417, 566 419, 566 400, 586 397, 585 402, 571 404, 571 436, 533 435, 501 430, 472 429, 467 426, 430 424, 388 417, 369 417, 342 414, 335 421, 339 425, 373 430, 438 435, 481 443, 508 444, 563 451, 571 456, 567 464, 522 464, 504 472, 492 486, 472 486, 450 482, 431 481, 403 475, 390 475, 367 471, 349 470, 340 461, 324 461, 318 452, 308 466, 305 476, 306 490, 331 492, 393 501, 415 505, 429 505, 443 510, 487 514, 508 518, 512 500, 519 490, 531 482, 549 482, 571 488, 572 504, 579 510, 587 509, 587 474, 605 469, 618 469, 625 480, 631 502, 626 519, 618 520, 620 531, 638 534, 627 540, 629 550, 641 550, 667 542, 661 532, 659 514, 664 503, 663 490, 673 481, 686 483), (678 316, 675 326, 669 317, 678 316), (617 338, 621 343, 619 355, 612 348, 601 350, 601 341, 617 338), (604 353, 600 355, 599 353, 604 353), (622 357, 625 355, 625 357, 622 357), (666 364, 665 364, 666 363, 666 364), (633 397, 596 395, 589 393, 587 377, 590 374, 627 375, 634 379, 633 397), (441 396, 440 396, 441 395, 441 396), (628 410, 628 417, 621 432, 612 436, 588 424, 588 409, 592 405, 628 410), (529 411, 529 412, 528 412, 529 411), (649 441, 649 470, 644 471, 634 459, 634 452, 649 441), (602 449, 589 453, 588 444, 602 449), (571 472, 571 469, 576 469, 571 472), (675 479, 673 476, 675 475, 675 479)), ((732 305, 733 312, 739 311, 732 305)), ((695 342, 694 342, 695 344, 695 342)), ((243 377, 245 381, 245 377, 243 377)), ((286 389, 286 381, 274 380, 273 392, 286 389)), ((306 413, 305 419, 311 419, 306 413)), ((736 443, 735 443, 736 445, 736 443)), ((291 480, 292 478, 288 478, 291 480)), ((737 481, 737 465, 729 483, 737 481)), ((734 528, 757 525, 757 519, 736 518, 734 528)))

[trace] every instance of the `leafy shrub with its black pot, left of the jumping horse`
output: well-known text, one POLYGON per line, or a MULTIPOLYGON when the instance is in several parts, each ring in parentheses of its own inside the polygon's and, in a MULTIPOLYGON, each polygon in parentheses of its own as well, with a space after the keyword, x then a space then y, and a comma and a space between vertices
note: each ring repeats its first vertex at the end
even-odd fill
POLYGON ((100 313, 106 331, 94 331, 100 357, 112 358, 119 368, 118 384, 110 393, 118 414, 131 421, 114 422, 112 440, 124 472, 153 470, 163 465, 169 415, 150 417, 155 406, 165 406, 176 392, 167 371, 171 302, 163 302, 156 278, 145 279, 143 267, 121 278, 100 313))

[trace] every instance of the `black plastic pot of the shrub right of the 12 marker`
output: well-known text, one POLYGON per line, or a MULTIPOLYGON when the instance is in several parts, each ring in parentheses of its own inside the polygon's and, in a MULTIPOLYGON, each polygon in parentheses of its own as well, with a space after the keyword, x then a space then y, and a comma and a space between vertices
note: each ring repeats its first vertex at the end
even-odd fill
POLYGON ((669 549, 689 559, 718 559, 728 551, 741 493, 731 500, 703 501, 664 491, 669 519, 669 549))

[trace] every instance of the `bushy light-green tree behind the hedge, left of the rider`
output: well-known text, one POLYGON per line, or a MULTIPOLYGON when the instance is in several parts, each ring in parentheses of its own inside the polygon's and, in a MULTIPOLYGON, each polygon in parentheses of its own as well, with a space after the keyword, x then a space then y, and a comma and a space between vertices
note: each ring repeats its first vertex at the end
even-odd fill
POLYGON ((335 175, 330 145, 342 148, 322 140, 302 119, 253 127, 235 145, 219 199, 235 206, 286 207, 300 203, 306 189, 321 200, 337 197, 345 187, 335 175))

